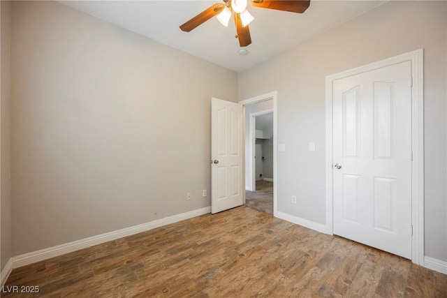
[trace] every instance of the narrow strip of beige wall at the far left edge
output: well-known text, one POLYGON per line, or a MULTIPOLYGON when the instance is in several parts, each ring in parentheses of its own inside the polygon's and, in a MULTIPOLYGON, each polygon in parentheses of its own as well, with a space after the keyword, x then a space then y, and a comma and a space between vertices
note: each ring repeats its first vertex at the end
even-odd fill
POLYGON ((0 209, 1 209, 1 261, 3 270, 11 253, 11 197, 10 197, 10 1, 0 1, 1 43, 0 43, 0 209))

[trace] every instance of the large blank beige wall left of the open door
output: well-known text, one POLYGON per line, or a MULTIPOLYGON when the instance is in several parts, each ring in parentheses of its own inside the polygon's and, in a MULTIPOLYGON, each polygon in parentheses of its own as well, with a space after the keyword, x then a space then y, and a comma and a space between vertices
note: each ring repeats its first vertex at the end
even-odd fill
POLYGON ((12 20, 13 255, 210 206, 236 73, 57 2, 12 20))

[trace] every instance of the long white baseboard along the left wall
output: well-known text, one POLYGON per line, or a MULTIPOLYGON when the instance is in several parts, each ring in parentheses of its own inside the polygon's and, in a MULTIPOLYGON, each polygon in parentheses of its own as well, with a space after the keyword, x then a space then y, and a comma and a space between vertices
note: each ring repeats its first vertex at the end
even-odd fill
MULTIPOLYGON (((41 260, 47 260, 49 258, 57 257, 58 255, 64 255, 65 253, 78 251, 82 248, 87 248, 90 246, 94 246, 96 244, 102 244, 107 241, 112 241, 133 234, 138 234, 140 232, 145 232, 147 230, 152 230, 154 228, 159 228, 163 225, 169 225, 170 223, 177 223, 177 221, 184 221, 185 219, 193 218, 203 214, 208 214, 210 212, 211 207, 205 207, 202 209, 177 214, 174 216, 168 216, 166 218, 157 219, 156 221, 150 221, 149 223, 134 225, 133 227, 130 228, 124 228, 121 230, 116 230, 113 232, 99 234, 97 236, 69 242, 66 244, 45 248, 40 251, 33 251, 31 253, 25 253, 24 255, 17 255, 16 257, 12 258, 13 259, 12 269, 29 265, 35 262, 39 262, 41 260)), ((1 277, 3 278, 3 272, 1 277)))

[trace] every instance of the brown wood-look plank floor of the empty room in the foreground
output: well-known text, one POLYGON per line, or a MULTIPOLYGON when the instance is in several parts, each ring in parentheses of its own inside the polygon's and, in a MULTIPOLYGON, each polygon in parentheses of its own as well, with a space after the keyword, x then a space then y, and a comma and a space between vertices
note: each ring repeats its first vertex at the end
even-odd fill
POLYGON ((447 276, 248 207, 14 269, 2 297, 447 297, 447 276))

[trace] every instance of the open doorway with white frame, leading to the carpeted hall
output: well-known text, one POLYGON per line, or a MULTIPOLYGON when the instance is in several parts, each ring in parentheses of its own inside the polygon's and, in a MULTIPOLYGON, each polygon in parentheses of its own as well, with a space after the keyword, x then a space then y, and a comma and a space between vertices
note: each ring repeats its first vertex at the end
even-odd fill
POLYGON ((242 100, 244 105, 245 200, 276 215, 276 92, 242 100))

